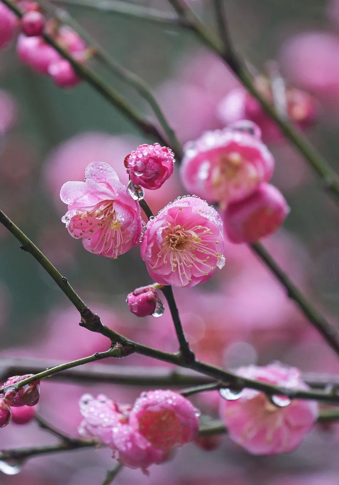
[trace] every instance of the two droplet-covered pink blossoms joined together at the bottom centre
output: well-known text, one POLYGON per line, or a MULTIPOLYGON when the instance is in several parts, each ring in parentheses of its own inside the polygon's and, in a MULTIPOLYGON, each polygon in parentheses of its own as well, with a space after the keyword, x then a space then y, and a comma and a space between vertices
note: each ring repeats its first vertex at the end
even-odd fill
POLYGON ((199 411, 171 390, 143 392, 132 407, 85 394, 80 410, 84 419, 79 433, 98 438, 130 468, 146 470, 162 463, 173 448, 193 441, 199 429, 199 411))

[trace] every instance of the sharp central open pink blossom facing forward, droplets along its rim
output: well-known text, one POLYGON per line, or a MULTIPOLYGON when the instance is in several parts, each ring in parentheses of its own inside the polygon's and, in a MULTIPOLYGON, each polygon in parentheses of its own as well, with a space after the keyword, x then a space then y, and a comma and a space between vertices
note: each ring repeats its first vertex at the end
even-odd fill
POLYGON ((178 198, 146 227, 141 256, 151 278, 162 285, 204 283, 225 264, 219 214, 198 197, 178 198))

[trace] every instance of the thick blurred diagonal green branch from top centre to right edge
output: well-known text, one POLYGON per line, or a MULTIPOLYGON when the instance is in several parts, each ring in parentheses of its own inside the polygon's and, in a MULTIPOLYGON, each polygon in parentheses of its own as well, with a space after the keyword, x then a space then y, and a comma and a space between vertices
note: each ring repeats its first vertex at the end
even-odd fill
MULTIPOLYGON (((185 18, 190 23, 192 30, 197 37, 212 49, 224 62, 231 68, 234 74, 242 82, 245 88, 258 100, 264 111, 274 120, 285 137, 297 148, 303 155, 315 173, 322 178, 324 187, 332 195, 339 200, 339 177, 333 168, 326 162, 314 146, 307 140, 299 130, 294 128, 291 123, 285 121, 257 90, 254 85, 251 74, 246 68, 244 62, 235 53, 231 43, 229 42, 228 33, 226 33, 228 43, 224 44, 219 38, 214 35, 206 25, 194 14, 192 9, 183 0, 168 0, 169 3, 176 10, 177 14, 185 18)), ((226 26, 225 26, 226 29, 226 26)))

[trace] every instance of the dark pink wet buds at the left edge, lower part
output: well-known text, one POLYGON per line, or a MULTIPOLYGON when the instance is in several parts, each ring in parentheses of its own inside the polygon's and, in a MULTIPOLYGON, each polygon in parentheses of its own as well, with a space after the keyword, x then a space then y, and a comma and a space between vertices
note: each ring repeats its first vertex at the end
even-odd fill
MULTIPOLYGON (((13 386, 18 382, 32 377, 33 374, 15 375, 9 377, 4 387, 13 386)), ((40 399, 40 381, 25 384, 18 391, 9 388, 0 395, 0 428, 7 426, 12 420, 16 424, 26 424, 35 415, 36 404, 40 399)))

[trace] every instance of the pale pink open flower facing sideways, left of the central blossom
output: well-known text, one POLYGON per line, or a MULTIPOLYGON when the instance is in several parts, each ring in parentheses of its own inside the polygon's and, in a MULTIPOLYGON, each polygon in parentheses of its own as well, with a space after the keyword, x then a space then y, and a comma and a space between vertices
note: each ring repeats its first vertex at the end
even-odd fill
POLYGON ((62 221, 87 251, 115 259, 139 241, 140 206, 108 163, 90 163, 85 181, 66 182, 60 197, 68 205, 62 221))

